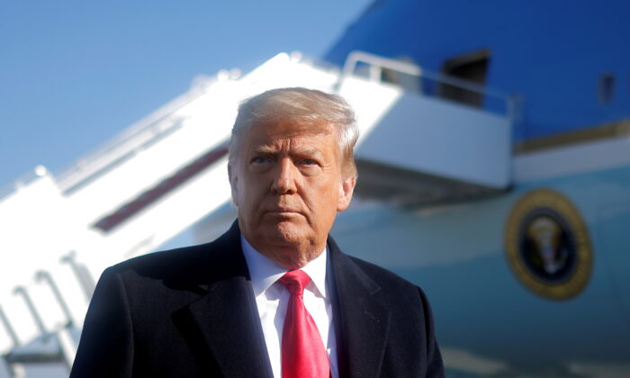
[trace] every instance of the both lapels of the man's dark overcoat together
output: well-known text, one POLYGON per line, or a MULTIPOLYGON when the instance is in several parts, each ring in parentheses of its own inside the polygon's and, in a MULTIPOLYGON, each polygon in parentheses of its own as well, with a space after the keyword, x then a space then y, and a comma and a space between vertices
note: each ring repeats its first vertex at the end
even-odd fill
MULTIPOLYGON (((188 311, 222 373, 272 377, 266 343, 257 315, 247 263, 240 247, 238 221, 211 243, 205 295, 188 311)), ((329 273, 340 377, 379 376, 390 312, 380 302, 380 287, 329 238, 329 273)))

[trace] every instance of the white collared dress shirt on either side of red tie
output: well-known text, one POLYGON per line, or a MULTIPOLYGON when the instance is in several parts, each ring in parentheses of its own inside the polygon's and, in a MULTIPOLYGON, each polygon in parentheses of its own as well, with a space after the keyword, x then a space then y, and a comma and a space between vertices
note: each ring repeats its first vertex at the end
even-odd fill
MULTIPOLYGON (((258 315, 265 334, 271 368, 274 371, 274 377, 281 378, 281 340, 290 293, 284 284, 277 281, 287 270, 258 253, 242 235, 240 244, 247 261, 252 289, 256 295, 258 315)), ((311 313, 329 355, 330 373, 333 378, 338 378, 337 343, 330 304, 331 284, 326 275, 327 258, 328 250, 324 250, 319 257, 302 267, 302 271, 311 277, 311 283, 306 286, 303 298, 304 306, 311 313)))

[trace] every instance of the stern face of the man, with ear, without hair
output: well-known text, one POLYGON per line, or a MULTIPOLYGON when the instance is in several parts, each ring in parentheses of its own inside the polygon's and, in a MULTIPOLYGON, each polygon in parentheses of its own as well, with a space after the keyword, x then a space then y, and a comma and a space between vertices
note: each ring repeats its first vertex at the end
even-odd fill
POLYGON ((229 166, 238 225, 252 247, 290 269, 319 256, 355 187, 341 162, 337 135, 325 122, 252 126, 229 166))

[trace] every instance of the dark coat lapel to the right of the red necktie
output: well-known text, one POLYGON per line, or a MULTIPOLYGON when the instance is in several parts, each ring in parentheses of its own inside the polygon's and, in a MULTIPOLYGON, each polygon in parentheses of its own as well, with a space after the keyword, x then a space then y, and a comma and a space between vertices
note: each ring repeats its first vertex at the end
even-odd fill
POLYGON ((329 238, 335 293, 333 308, 341 377, 377 377, 381 372, 390 311, 380 287, 329 238))

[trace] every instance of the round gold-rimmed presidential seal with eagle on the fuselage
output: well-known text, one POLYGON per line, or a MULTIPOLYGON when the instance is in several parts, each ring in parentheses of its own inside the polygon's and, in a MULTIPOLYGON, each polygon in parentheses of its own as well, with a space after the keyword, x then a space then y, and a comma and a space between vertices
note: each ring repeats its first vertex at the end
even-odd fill
POLYGON ((550 300, 575 297, 593 266, 588 229, 563 194, 536 189, 509 213, 505 229, 509 266, 527 289, 550 300))

